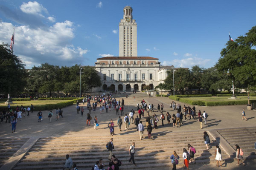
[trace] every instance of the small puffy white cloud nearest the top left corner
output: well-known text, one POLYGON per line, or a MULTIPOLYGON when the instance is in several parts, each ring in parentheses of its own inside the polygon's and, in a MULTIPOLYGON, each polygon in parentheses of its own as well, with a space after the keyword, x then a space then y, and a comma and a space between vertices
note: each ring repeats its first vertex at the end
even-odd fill
POLYGON ((26 14, 36 14, 44 17, 41 13, 44 11, 46 14, 48 14, 48 11, 46 8, 44 8, 43 5, 39 4, 38 2, 29 1, 28 3, 23 3, 20 6, 20 10, 23 11, 26 14))

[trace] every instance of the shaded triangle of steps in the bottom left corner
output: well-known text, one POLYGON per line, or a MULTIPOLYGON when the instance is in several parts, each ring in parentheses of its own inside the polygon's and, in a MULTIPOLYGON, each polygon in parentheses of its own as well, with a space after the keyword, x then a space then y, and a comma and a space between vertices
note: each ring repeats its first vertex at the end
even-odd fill
POLYGON ((18 150, 28 139, 0 139, 0 167, 18 150))

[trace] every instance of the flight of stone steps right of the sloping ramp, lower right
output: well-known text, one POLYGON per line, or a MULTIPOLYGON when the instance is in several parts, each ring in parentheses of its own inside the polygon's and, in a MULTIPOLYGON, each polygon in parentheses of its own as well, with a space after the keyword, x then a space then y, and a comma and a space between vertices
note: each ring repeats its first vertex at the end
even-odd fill
POLYGON ((256 150, 254 150, 256 127, 241 127, 217 131, 234 148, 234 152, 236 144, 238 144, 244 152, 244 159, 256 159, 256 150))

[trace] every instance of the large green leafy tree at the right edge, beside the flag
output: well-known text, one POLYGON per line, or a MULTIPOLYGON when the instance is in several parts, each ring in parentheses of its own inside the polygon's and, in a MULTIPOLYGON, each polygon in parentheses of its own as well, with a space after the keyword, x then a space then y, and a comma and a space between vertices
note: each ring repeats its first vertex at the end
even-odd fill
POLYGON ((228 41, 221 50, 221 57, 216 64, 219 72, 230 74, 234 82, 242 87, 256 84, 256 26, 245 36, 235 41, 228 41))

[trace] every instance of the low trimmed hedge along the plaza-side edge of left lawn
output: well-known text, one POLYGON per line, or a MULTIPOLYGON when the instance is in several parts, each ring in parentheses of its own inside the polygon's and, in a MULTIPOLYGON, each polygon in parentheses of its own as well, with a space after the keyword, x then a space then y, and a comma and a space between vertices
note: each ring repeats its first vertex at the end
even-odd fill
MULTIPOLYGON (((44 110, 54 110, 56 108, 64 108, 69 105, 73 105, 74 101, 64 101, 56 104, 46 104, 46 105, 35 105, 34 111, 44 111, 44 110)), ((30 105, 23 105, 25 108, 30 105)), ((16 110, 17 105, 11 105, 12 110, 16 110)), ((3 108, 7 109, 7 105, 0 106, 0 110, 3 111, 3 108)))

